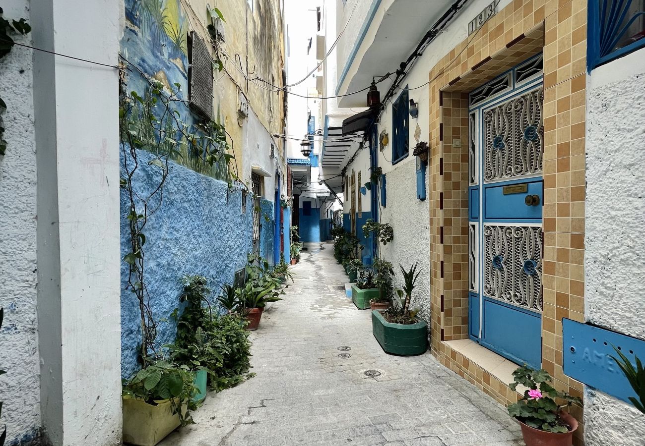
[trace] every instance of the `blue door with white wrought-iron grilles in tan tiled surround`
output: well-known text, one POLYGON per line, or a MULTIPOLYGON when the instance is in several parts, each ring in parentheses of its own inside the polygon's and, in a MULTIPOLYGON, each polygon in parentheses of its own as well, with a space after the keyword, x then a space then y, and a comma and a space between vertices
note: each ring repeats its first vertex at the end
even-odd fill
POLYGON ((469 334, 532 367, 542 358, 541 61, 470 94, 469 334))

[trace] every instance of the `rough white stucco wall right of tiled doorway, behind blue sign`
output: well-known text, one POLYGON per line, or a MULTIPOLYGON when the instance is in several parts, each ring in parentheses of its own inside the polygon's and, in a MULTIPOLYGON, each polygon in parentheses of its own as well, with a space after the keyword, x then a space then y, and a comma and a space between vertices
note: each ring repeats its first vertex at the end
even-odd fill
MULTIPOLYGON (((645 339, 645 49, 587 82, 585 316, 645 339)), ((645 438, 645 415, 600 392, 586 392, 584 422, 589 446, 645 438)))

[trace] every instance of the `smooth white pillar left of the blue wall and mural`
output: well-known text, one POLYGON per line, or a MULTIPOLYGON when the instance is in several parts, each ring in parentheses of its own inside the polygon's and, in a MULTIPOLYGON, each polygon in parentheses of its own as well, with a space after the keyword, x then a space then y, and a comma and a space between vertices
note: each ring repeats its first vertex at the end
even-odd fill
MULTIPOLYGON (((31 2, 34 46, 117 65, 121 1, 31 2)), ((34 52, 45 441, 121 443, 118 73, 34 52)))

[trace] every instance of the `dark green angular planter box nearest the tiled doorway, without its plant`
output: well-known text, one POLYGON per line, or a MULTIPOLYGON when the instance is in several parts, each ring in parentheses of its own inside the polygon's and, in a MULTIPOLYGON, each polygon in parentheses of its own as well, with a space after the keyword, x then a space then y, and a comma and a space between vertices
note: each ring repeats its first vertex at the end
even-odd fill
MULTIPOLYGON (((369 303, 368 303, 369 305, 369 303)), ((392 324, 385 320, 381 311, 372 311, 372 333, 385 353, 414 356, 428 349, 428 324, 392 324)))

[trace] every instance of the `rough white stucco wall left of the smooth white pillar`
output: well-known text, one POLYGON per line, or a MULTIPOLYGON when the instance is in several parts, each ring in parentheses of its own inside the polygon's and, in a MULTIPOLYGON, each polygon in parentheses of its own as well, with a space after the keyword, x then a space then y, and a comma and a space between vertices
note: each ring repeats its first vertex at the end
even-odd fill
MULTIPOLYGON (((30 22, 29 2, 3 5, 7 20, 30 22)), ((31 35, 13 35, 31 44, 31 35)), ((29 441, 40 427, 40 383, 36 321, 36 157, 32 50, 14 46, 0 61, 0 97, 7 110, 0 156, 0 307, 5 320, 0 331, 0 423, 7 425, 7 444, 29 441)))

